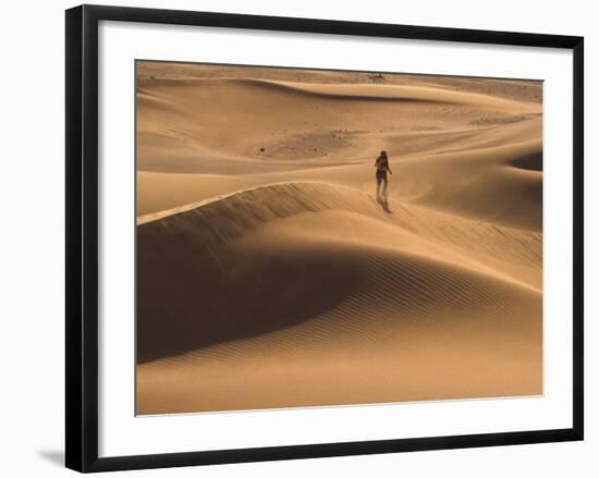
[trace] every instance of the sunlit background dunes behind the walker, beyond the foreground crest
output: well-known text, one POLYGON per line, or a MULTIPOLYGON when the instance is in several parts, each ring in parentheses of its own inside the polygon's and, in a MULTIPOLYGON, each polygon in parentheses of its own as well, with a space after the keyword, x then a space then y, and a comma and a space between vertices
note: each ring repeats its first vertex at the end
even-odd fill
POLYGON ((137 91, 139 216, 260 184, 374 187, 504 226, 542 226, 540 105, 413 85, 155 79, 137 91), (257 121, 259 119, 259 121, 257 121))

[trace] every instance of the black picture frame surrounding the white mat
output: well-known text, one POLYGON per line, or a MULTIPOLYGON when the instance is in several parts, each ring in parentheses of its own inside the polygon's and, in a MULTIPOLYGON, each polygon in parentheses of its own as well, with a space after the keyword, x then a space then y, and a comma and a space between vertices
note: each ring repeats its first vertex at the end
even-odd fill
POLYGON ((583 440, 584 39, 330 20, 82 5, 66 11, 66 380, 65 463, 78 471, 396 453, 583 440), (367 37, 548 47, 573 51, 572 428, 399 440, 98 457, 98 23, 198 25, 367 37))

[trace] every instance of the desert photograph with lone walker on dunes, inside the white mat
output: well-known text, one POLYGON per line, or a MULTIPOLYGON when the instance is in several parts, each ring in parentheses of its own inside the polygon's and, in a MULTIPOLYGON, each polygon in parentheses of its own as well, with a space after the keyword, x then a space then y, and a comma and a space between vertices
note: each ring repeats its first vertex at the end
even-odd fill
POLYGON ((543 393, 542 82, 135 68, 137 415, 543 393))

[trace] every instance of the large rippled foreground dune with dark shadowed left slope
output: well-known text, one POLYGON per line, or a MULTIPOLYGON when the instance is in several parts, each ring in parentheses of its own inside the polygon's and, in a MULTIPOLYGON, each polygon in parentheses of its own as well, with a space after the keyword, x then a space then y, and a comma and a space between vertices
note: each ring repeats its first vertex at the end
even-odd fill
POLYGON ((541 294, 515 277, 538 237, 389 207, 280 184, 144 218, 138 413, 540 393, 541 294))

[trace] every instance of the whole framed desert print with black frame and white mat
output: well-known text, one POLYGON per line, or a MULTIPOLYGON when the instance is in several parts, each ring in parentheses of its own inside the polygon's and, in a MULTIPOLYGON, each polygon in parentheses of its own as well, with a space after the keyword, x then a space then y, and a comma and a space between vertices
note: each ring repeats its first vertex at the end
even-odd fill
POLYGON ((66 11, 66 466, 583 439, 583 38, 66 11))

